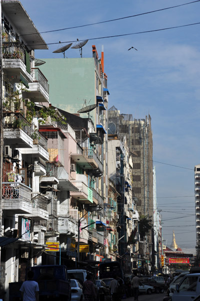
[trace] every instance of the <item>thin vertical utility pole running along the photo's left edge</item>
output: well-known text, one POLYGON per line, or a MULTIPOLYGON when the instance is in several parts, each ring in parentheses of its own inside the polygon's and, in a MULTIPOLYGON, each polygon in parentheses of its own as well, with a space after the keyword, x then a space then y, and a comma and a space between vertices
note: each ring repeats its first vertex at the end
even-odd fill
MULTIPOLYGON (((0 0, 1 16, 1 0, 0 0)), ((3 178, 3 67, 2 67, 2 25, 0 21, 0 236, 2 228, 2 178, 3 178)))

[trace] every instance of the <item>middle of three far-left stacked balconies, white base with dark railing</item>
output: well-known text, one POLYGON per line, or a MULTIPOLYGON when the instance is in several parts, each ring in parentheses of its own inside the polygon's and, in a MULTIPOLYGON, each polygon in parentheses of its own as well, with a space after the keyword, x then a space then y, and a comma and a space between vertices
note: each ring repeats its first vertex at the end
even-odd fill
POLYGON ((32 148, 31 124, 18 112, 7 112, 3 118, 5 145, 17 148, 32 148))

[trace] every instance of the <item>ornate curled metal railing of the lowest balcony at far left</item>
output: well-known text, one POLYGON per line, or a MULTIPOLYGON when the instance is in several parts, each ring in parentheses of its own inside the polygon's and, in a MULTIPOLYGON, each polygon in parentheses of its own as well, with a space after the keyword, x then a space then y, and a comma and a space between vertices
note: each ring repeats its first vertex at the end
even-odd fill
POLYGON ((2 183, 2 198, 5 200, 20 199, 31 202, 31 188, 18 182, 2 183))

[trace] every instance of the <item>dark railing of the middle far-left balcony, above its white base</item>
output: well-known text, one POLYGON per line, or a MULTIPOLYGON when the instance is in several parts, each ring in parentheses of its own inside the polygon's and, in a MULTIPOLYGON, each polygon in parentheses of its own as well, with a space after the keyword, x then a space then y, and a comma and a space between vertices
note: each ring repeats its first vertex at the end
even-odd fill
POLYGON ((21 128, 28 136, 31 137, 31 124, 21 113, 6 113, 3 122, 3 128, 21 128))

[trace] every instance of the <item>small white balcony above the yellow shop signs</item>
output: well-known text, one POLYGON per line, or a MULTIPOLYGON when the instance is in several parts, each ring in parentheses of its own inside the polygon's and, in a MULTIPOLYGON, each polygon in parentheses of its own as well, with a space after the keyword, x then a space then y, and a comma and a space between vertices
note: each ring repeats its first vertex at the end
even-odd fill
POLYGON ((59 234, 78 235, 77 221, 71 217, 58 217, 58 232, 59 234))

